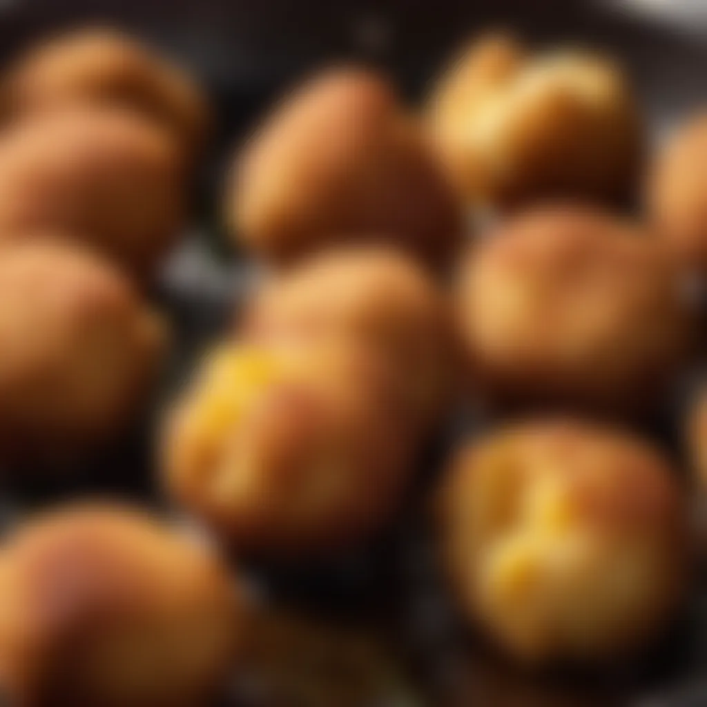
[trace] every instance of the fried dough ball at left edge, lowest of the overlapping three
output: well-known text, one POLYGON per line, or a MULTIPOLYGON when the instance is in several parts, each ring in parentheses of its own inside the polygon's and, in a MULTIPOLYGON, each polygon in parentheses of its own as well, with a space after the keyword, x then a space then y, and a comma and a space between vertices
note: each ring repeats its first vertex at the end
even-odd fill
POLYGON ((129 423, 165 326, 122 274, 66 245, 0 248, 0 460, 73 462, 129 423))

